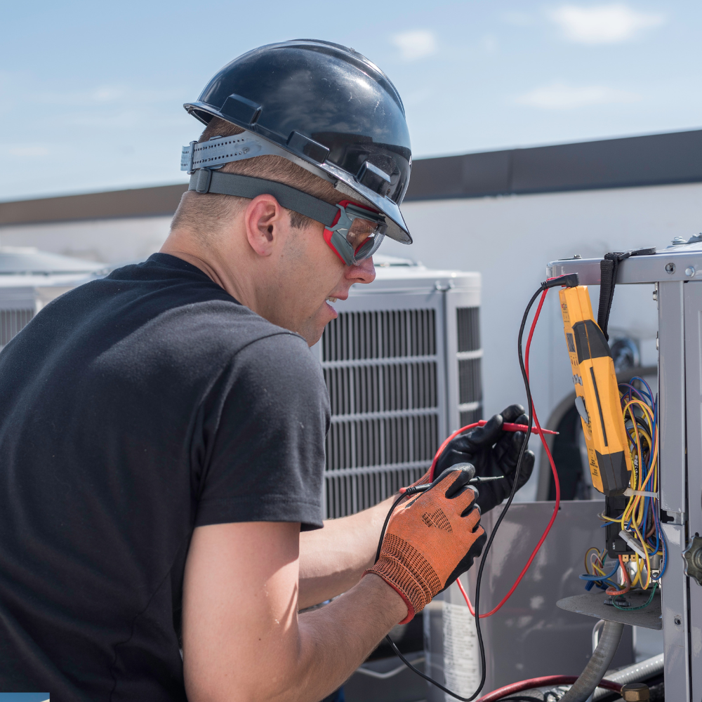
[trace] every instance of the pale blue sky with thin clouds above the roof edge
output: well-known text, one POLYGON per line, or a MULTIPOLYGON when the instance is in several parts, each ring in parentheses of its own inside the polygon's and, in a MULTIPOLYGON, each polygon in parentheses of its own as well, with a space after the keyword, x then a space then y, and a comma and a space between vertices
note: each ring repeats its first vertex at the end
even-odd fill
POLYGON ((184 180, 181 106, 272 41, 352 46, 395 82, 415 157, 702 126, 702 4, 10 3, 0 200, 184 180))

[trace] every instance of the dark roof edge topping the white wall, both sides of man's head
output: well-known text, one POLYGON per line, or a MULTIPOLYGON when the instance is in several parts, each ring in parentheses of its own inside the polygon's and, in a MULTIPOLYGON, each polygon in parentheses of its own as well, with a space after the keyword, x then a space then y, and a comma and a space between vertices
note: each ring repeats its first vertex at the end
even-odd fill
MULTIPOLYGON (((417 159, 405 201, 702 182, 702 129, 417 159)), ((187 184, 0 202, 0 227, 172 215, 187 184)))

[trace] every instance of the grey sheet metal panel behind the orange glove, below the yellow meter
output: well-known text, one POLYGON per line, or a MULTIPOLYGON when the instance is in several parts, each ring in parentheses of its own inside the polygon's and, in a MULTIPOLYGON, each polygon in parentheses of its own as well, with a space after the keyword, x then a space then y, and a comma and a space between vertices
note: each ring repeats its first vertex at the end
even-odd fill
MULTIPOLYGON (((522 583, 496 614, 481 620, 485 641, 487 679, 484 693, 510 682, 539 675, 580 675, 592 654, 592 627, 595 619, 556 607, 557 600, 580 595, 584 583, 578 578, 583 571, 583 556, 590 546, 603 545, 604 538, 597 515, 604 502, 567 501, 561 503, 556 522, 522 583)), ((553 511, 552 502, 513 504, 503 521, 483 575, 481 588, 482 613, 489 611, 504 597, 527 562, 553 511)), ((482 517, 488 533, 499 516, 495 508, 482 517)), ((475 602, 475 578, 479 561, 462 576, 475 602)), ((437 600, 444 602, 442 616, 451 616, 453 607, 465 607, 456 585, 451 585, 437 600), (446 604, 451 607, 447 608, 446 604)), ((437 600, 425 614, 425 634, 428 635, 428 665, 439 682, 456 676, 451 661, 456 656, 447 650, 446 637, 440 642, 442 630, 437 600), (446 665, 448 663, 448 665, 446 665)), ((633 663, 633 638, 630 627, 625 628, 617 665, 633 663)), ((455 640, 454 636, 454 640, 455 640)), ((472 668, 476 661, 463 661, 465 689, 459 694, 472 694, 472 668)), ((455 667, 455 665, 453 666, 455 667)), ((429 689, 428 699, 444 702, 443 693, 429 689)), ((449 700, 450 698, 446 698, 449 700)))

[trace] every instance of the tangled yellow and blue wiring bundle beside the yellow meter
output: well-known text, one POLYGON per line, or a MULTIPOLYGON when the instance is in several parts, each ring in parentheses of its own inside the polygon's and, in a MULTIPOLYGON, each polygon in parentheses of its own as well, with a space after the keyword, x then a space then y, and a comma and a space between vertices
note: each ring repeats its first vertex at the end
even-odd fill
POLYGON ((644 609, 653 602, 668 564, 668 548, 658 516, 658 399, 649 384, 638 377, 629 383, 619 383, 619 395, 633 464, 630 486, 624 493, 629 500, 621 517, 602 514, 600 518, 621 527, 619 536, 634 553, 627 556, 626 561, 620 555, 614 569, 607 573, 604 567, 606 550, 600 552, 597 548, 589 548, 585 552, 585 574, 580 577, 588 581, 586 590, 593 585, 606 589, 607 595, 614 597, 614 607, 633 611, 644 609), (617 583, 616 578, 621 583, 617 583), (621 607, 617 597, 637 586, 642 590, 651 587, 648 602, 641 607, 621 607))

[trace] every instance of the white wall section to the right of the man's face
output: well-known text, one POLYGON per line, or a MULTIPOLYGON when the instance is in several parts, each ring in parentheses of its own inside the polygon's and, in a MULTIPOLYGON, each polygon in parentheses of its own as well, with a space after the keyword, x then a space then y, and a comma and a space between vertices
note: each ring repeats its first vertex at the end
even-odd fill
MULTIPOLYGON (((525 402, 517 361, 524 307, 550 260, 600 258, 608 251, 667 246, 702 231, 702 184, 411 202, 403 207, 414 244, 381 251, 425 265, 483 275, 482 345, 486 416, 525 402)), ((656 362, 652 286, 618 286, 610 336, 640 341, 642 362, 656 362)), ((590 290, 597 316, 599 286, 590 290)), ((572 391, 557 291, 550 291, 531 351, 531 388, 542 423, 572 391)), ((526 341, 526 335, 525 335, 526 341)), ((532 439, 538 451, 538 442, 532 439)), ((537 458, 538 463, 538 458, 537 458)), ((522 491, 533 498, 536 484, 522 491)))

